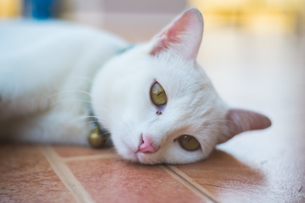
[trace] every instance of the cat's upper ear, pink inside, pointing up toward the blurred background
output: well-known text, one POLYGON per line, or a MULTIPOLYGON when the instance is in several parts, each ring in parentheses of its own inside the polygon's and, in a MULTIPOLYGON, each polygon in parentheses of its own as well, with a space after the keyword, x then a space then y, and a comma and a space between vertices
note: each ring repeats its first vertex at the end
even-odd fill
POLYGON ((151 55, 175 52, 186 60, 196 60, 203 33, 203 18, 196 8, 186 10, 153 39, 151 55))

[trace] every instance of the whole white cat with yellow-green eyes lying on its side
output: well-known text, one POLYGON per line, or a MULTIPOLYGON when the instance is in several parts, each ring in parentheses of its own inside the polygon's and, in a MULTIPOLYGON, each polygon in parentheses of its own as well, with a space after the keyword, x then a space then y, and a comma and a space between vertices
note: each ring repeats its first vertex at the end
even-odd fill
POLYGON ((261 114, 230 109, 196 63, 203 33, 191 8, 152 41, 129 46, 65 22, 2 22, 0 136, 88 145, 91 114, 125 159, 186 164, 246 130, 261 114))

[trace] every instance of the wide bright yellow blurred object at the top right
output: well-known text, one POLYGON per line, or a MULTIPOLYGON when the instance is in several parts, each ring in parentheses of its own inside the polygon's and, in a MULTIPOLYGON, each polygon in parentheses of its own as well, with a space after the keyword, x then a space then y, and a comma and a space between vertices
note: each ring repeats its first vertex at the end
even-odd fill
POLYGON ((295 33, 304 23, 305 0, 189 0, 214 25, 255 33, 295 33))

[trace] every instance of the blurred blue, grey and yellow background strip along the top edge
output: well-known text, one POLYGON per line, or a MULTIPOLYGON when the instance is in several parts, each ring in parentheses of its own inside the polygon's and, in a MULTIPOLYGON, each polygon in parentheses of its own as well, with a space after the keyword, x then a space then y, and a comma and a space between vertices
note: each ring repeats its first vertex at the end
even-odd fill
MULTIPOLYGON (((167 23, 189 6, 201 10, 209 29, 253 33, 305 32, 305 0, 0 0, 0 18, 62 18, 98 27, 167 23), (141 18, 141 19, 139 19, 141 18), (140 23, 145 19, 146 23, 140 23)), ((150 31, 150 30, 149 30, 150 31)))

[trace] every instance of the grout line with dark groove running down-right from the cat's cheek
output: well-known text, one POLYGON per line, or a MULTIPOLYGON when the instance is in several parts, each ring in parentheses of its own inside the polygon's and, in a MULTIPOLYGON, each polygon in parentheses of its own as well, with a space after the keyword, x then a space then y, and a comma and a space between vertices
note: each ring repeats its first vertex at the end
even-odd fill
POLYGON ((221 203, 217 198, 215 198, 208 190, 206 190, 201 185, 197 184, 193 179, 191 179, 187 174, 179 170, 175 166, 170 165, 161 165, 161 168, 163 168, 166 172, 168 172, 170 175, 172 175, 173 178, 178 180, 183 185, 187 186, 193 193, 198 195, 199 197, 203 199, 209 199, 213 203, 221 203))

